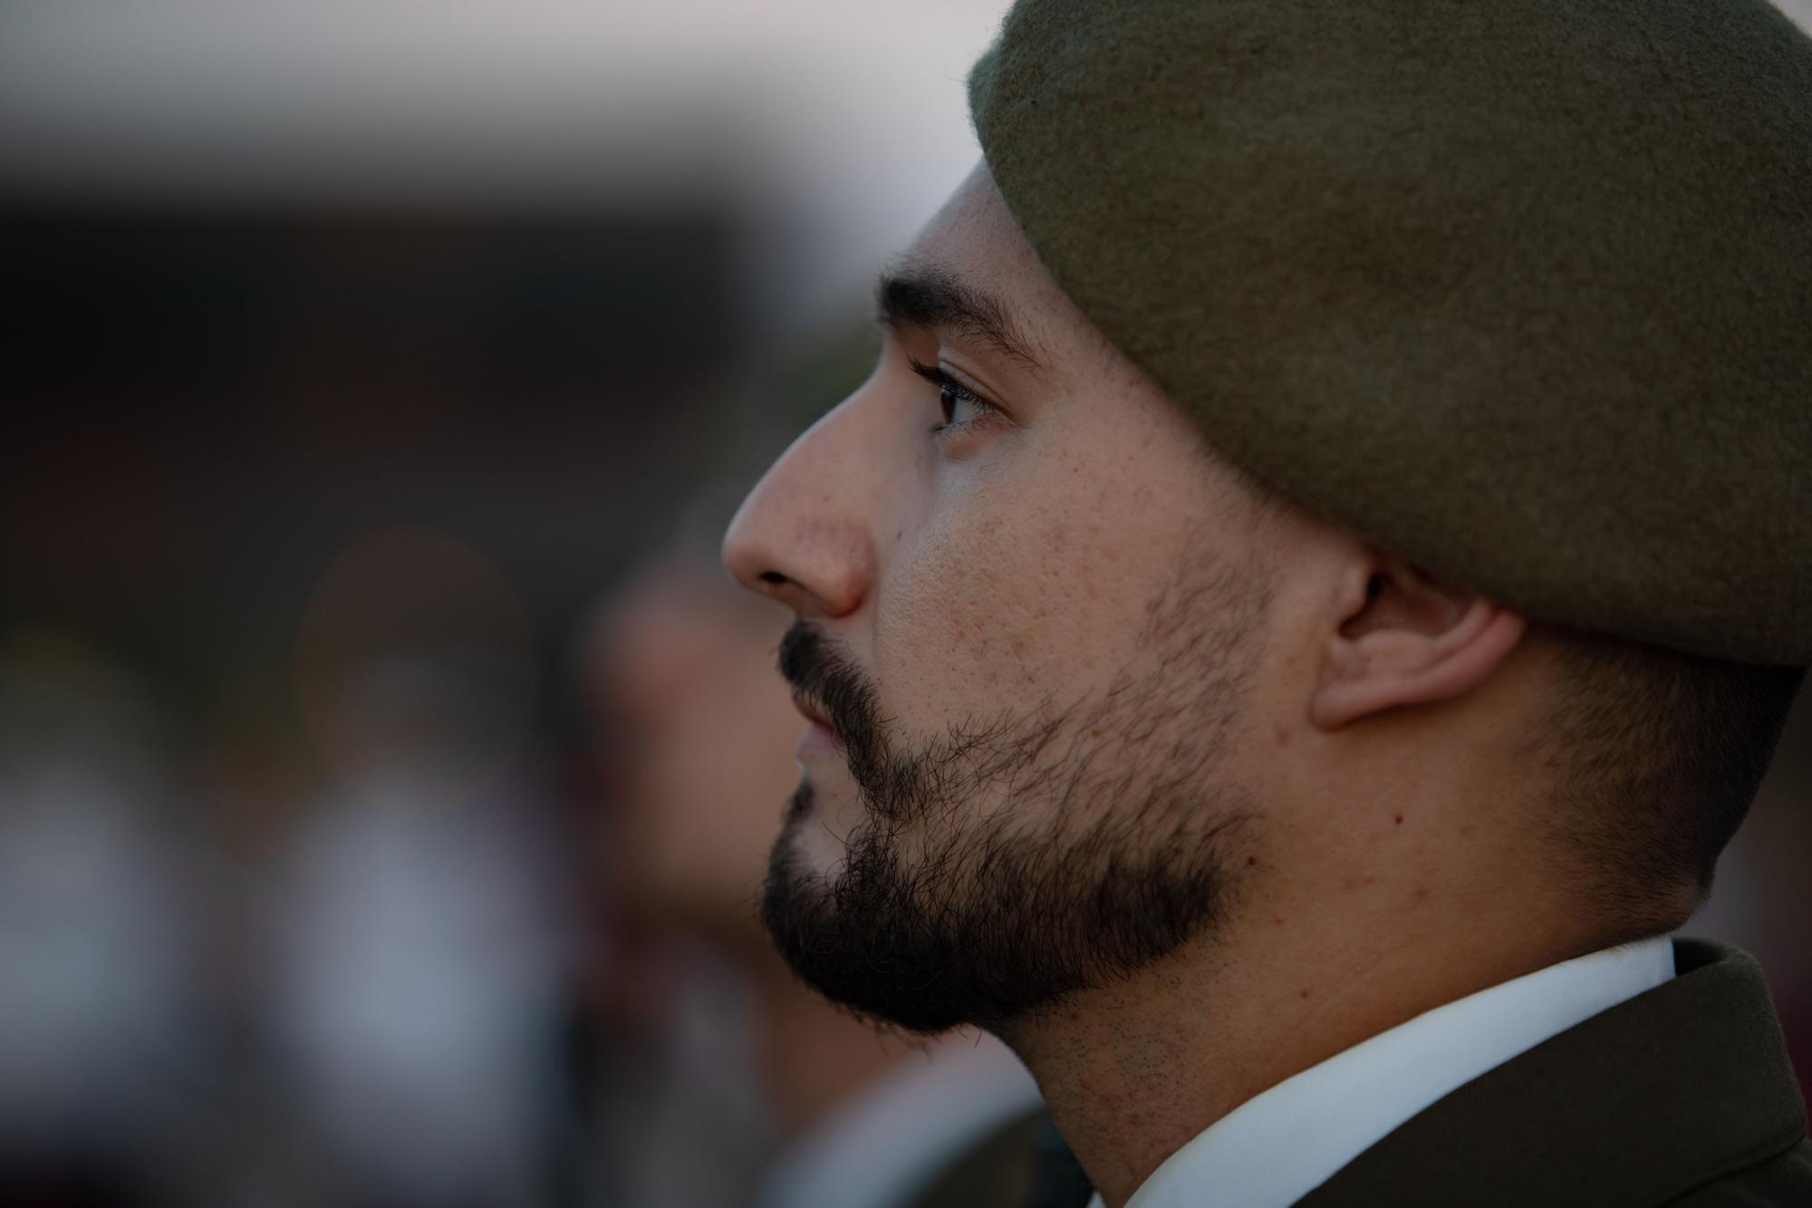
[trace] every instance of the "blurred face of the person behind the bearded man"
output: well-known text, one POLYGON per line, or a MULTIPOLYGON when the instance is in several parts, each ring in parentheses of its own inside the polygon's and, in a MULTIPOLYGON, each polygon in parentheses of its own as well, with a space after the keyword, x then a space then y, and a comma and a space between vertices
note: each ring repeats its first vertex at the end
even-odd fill
POLYGON ((596 631, 618 876, 634 903, 719 940, 757 938, 776 813, 748 802, 779 802, 797 782, 779 631, 772 606, 683 562, 641 573, 596 631))

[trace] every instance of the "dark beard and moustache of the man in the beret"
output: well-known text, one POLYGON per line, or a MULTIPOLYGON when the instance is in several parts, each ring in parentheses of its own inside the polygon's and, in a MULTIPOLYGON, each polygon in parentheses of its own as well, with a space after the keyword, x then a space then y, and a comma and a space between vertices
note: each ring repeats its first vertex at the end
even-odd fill
POLYGON ((1136 673, 1067 709, 953 726, 917 751, 888 742, 861 671, 795 624, 781 673, 830 718, 866 822, 826 880, 799 856, 812 785, 794 794, 761 905, 794 972, 911 1032, 1002 1030, 1209 929, 1248 814, 1209 773, 1252 677, 1247 635, 1265 604, 1261 586, 1225 573, 1172 591, 1152 609, 1136 673), (975 818, 989 787, 1009 807, 975 818))

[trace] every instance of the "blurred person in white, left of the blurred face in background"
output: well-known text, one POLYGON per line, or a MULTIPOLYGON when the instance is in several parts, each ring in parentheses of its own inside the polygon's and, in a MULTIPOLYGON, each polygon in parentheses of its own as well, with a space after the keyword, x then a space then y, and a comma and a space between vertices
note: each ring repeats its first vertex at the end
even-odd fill
POLYGON ((284 847, 268 1019, 330 1203, 545 1204, 574 936, 520 608, 469 548, 379 530, 310 600, 299 678, 326 776, 284 847))

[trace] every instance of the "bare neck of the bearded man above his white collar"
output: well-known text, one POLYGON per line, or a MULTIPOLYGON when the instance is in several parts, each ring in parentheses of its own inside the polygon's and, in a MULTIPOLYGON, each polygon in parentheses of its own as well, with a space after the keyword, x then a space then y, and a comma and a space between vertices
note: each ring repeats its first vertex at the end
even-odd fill
POLYGON ((1564 925, 1575 912, 1531 905, 1526 883, 1437 869, 1335 883, 1254 885, 1238 918, 1161 965, 1002 1028, 1109 1208, 1279 1081, 1598 947, 1564 925))

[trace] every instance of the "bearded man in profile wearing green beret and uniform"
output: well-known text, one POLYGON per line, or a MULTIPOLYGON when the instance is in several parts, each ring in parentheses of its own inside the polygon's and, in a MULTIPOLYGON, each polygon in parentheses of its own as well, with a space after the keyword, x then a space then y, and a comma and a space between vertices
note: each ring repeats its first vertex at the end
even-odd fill
POLYGON ((1669 940, 1812 662, 1812 44, 1763 0, 1020 0, 743 504, 763 914, 1100 1201, 1812 1203, 1669 940))

